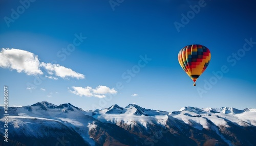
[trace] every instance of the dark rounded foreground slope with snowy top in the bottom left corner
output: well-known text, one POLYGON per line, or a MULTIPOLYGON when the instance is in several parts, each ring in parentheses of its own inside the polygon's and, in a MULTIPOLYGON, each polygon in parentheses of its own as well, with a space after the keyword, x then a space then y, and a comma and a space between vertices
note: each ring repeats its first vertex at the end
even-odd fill
MULTIPOLYGON (((4 125, 3 123, 4 119, 1 118, 0 124, 4 125)), ((0 127, 0 131, 2 133, 4 127, 0 127)), ((8 132, 9 140, 26 145, 58 145, 62 138, 66 139, 67 145, 89 145, 72 127, 49 118, 8 116, 8 132)))

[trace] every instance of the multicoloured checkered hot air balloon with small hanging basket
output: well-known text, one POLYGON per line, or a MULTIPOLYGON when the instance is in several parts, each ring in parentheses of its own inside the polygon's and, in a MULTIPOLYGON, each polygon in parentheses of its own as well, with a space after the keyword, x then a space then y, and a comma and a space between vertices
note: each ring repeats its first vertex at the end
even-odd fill
POLYGON ((191 44, 183 47, 179 54, 178 60, 182 69, 194 81, 204 72, 210 63, 210 51, 207 47, 200 44, 191 44))

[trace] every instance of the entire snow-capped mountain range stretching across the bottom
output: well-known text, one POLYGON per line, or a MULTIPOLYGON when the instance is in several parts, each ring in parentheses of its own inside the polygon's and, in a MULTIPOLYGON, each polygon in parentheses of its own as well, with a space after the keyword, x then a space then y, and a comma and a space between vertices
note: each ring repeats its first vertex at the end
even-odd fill
POLYGON ((256 109, 183 107, 167 112, 135 104, 84 111, 47 101, 0 109, 0 145, 256 145, 256 109))

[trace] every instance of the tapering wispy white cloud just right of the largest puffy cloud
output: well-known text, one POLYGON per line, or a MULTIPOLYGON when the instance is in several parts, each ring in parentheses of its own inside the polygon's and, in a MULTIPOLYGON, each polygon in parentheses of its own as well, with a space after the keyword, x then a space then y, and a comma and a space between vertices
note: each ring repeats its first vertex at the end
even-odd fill
POLYGON ((84 79, 84 75, 79 74, 78 72, 75 72, 70 68, 60 66, 59 64, 42 62, 40 66, 46 68, 48 71, 48 74, 50 75, 55 75, 61 78, 72 77, 76 79, 84 79))

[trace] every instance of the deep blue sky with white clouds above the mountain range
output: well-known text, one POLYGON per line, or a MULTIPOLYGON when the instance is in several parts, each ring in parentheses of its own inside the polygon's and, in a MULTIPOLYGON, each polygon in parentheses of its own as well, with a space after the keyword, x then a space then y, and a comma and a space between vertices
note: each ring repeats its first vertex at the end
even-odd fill
POLYGON ((252 0, 0 3, 0 86, 10 106, 256 108, 252 0), (211 52, 197 86, 177 57, 189 44, 211 52))

